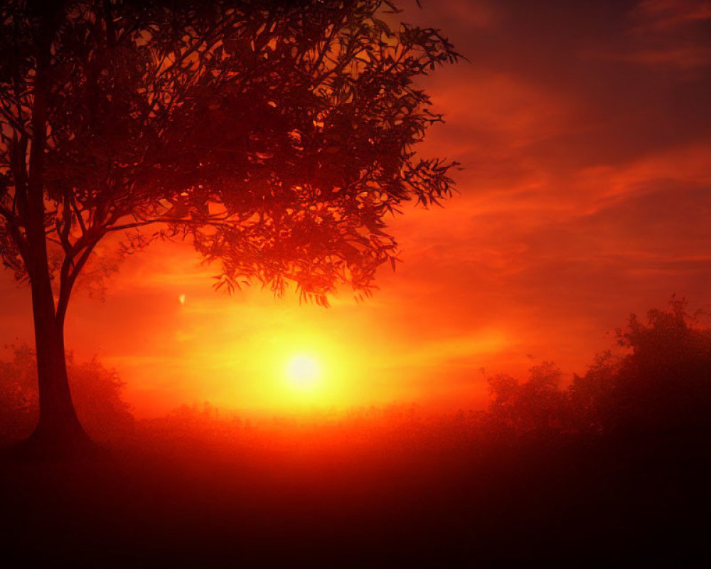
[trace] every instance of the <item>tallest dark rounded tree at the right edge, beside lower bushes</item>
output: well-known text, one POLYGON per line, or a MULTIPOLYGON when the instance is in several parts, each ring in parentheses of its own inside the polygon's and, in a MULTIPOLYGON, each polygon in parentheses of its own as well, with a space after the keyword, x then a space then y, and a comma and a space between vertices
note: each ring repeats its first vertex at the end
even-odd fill
MULTIPOLYGON (((616 332, 629 353, 605 353, 570 387, 587 427, 616 436, 705 437, 711 410, 711 329, 687 314, 685 299, 635 314, 616 332)), ((658 441, 657 441, 658 442, 658 441)))

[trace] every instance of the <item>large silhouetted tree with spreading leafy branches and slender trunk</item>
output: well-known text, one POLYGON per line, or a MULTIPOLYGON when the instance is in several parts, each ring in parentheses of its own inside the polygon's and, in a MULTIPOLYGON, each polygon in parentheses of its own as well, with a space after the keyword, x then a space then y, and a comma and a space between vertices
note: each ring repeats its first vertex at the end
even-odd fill
POLYGON ((0 254, 31 288, 40 416, 81 447, 64 324, 95 248, 190 239, 217 287, 326 304, 396 260, 384 218, 449 196, 414 80, 459 55, 388 0, 10 0, 0 7, 0 254), (112 240, 109 240, 112 241, 112 240))

